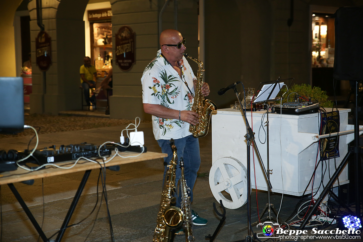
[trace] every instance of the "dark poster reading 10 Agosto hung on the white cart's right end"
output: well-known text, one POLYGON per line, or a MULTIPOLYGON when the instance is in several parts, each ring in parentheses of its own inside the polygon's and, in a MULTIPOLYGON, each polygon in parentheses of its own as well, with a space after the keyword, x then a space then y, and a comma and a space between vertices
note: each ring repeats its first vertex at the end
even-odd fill
MULTIPOLYGON (((338 111, 322 113, 321 134, 339 132, 339 120, 340 118, 338 111)), ((323 161, 339 157, 339 136, 327 137, 320 140, 320 157, 323 161)))

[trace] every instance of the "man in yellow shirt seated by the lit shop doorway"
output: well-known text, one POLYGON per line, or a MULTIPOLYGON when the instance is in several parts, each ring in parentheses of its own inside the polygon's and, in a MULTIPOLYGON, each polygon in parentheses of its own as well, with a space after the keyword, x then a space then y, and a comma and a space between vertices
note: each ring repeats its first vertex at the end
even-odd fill
POLYGON ((85 96, 85 100, 88 106, 96 104, 96 98, 94 95, 90 98, 89 89, 96 87, 97 71, 94 65, 91 65, 90 57, 86 56, 83 59, 84 64, 79 68, 79 74, 81 74, 81 84, 85 96))

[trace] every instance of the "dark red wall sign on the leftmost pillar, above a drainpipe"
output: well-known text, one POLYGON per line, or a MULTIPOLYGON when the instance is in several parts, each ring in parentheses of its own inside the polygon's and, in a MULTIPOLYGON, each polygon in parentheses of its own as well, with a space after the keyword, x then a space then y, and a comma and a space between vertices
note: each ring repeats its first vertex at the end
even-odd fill
POLYGON ((40 31, 35 39, 36 63, 42 72, 49 69, 52 65, 52 40, 45 31, 40 31))

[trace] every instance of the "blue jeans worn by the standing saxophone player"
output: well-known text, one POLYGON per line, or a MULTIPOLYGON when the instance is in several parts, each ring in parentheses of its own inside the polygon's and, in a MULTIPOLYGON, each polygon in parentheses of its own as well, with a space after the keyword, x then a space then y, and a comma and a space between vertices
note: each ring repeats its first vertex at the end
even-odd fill
MULTIPOLYGON (((159 146, 163 153, 168 154, 168 157, 164 158, 164 180, 165 174, 167 170, 167 165, 169 165, 170 161, 173 158, 173 152, 170 146, 170 140, 157 140, 159 146)), ((178 155, 178 165, 176 166, 176 174, 175 174, 175 184, 178 184, 180 179, 181 170, 179 166, 180 157, 183 157, 184 161, 184 177, 187 181, 187 186, 191 190, 190 201, 193 201, 193 187, 195 180, 197 179, 197 172, 200 166, 200 153, 199 153, 199 141, 197 138, 194 138, 192 135, 189 135, 184 138, 174 140, 176 146, 176 153, 178 155)), ((176 196, 176 195, 175 195, 176 196)), ((181 193, 179 189, 179 195, 176 199, 176 206, 180 207, 181 202, 181 193)))

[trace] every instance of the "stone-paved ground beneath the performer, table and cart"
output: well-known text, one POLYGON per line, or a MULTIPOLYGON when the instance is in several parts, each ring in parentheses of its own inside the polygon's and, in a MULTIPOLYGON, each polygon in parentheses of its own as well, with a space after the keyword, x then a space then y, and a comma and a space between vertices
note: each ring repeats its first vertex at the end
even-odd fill
MULTIPOLYGON (((125 126, 42 134, 39 136, 38 148, 50 145, 80 144, 81 142, 100 145, 106 141, 119 141, 123 128, 125 126)), ((151 123, 140 124, 138 130, 144 132, 147 150, 160 152, 160 148, 152 135, 151 123)), ((30 138, 31 136, 0 139, 0 150, 24 150, 30 138)), ((34 144, 33 141, 30 147, 33 147, 34 144)), ((212 165, 211 146, 212 138, 211 133, 209 133, 206 137, 200 139, 201 166, 193 190, 193 209, 201 217, 208 219, 208 225, 194 226, 195 241, 197 242, 206 241, 205 235, 213 234, 220 221, 220 217, 213 211, 213 202, 217 201, 212 195, 208 180, 209 170, 212 165)), ((121 165, 118 172, 107 169, 108 207, 115 241, 152 241, 161 198, 163 170, 162 159, 121 165)), ((99 193, 98 203, 96 204, 98 175, 97 170, 91 172, 70 223, 78 223, 82 219, 84 220, 78 225, 67 229, 62 241, 111 241, 107 208, 105 199, 101 198, 101 193, 99 193), (99 206, 100 203, 101 206, 99 206), (94 208, 94 212, 87 217, 94 208)), ((48 238, 61 227, 82 176, 83 172, 77 172, 47 177, 43 180, 37 179, 34 185, 14 184, 48 238), (44 198, 42 193, 44 193, 44 198)), ((100 191, 101 186, 98 189, 100 191)), ((258 220, 255 198, 256 191, 253 190, 251 202, 252 222, 258 220)), ((281 194, 273 193, 270 199, 278 210, 281 194)), ((282 219, 286 219, 291 214, 299 199, 298 197, 284 195, 284 202, 280 212, 282 219)), ((267 202, 265 192, 258 193, 258 201, 260 202, 259 211, 261 212, 267 202)), ((217 207, 220 208, 218 203, 217 207)), ((245 241, 246 230, 237 234, 235 232, 247 225, 246 209, 246 205, 238 209, 227 209, 224 226, 220 229, 214 241, 245 241)), ((41 241, 19 203, 17 203, 8 186, 5 185, 1 186, 1 210, 1 241, 41 241)), ((221 212, 221 210, 219 211, 221 212)), ((261 231, 258 231, 256 227, 254 227, 254 230, 258 233, 261 231)), ((52 239, 55 238, 56 235, 52 237, 52 239)), ((185 237, 184 235, 178 235, 174 241, 185 241, 185 237)))

